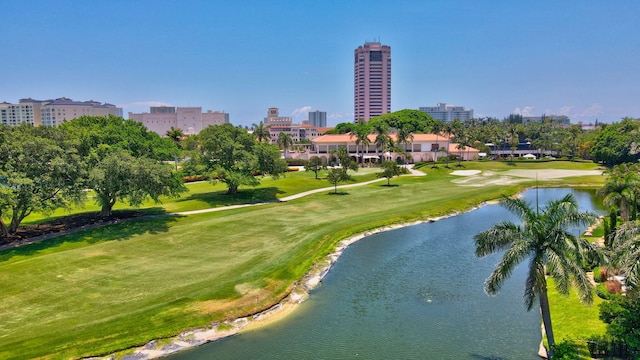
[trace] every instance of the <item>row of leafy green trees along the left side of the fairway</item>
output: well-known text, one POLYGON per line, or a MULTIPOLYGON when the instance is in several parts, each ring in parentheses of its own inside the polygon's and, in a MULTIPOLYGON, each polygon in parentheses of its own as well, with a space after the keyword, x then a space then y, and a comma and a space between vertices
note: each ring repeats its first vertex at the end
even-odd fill
POLYGON ((167 135, 115 116, 83 116, 58 127, 0 126, 0 236, 14 234, 32 213, 83 206, 88 190, 100 216, 109 217, 118 201, 139 206, 179 196, 187 191, 185 173, 207 174, 235 193, 256 186, 256 173, 277 177, 287 169, 277 147, 230 124, 184 141, 178 131, 167 135), (176 171, 180 157, 187 159, 176 171))

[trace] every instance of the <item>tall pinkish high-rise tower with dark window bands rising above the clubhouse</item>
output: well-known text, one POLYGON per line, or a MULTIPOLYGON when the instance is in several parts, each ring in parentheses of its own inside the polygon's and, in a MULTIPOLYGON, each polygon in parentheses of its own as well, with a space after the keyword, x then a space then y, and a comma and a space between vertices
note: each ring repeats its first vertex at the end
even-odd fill
POLYGON ((391 47, 366 42, 354 54, 354 121, 391 112, 391 47))

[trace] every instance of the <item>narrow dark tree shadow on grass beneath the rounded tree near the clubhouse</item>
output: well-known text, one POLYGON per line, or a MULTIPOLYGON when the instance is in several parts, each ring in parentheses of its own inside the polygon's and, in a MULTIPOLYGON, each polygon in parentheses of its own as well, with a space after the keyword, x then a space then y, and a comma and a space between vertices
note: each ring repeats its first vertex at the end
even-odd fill
POLYGON ((177 199, 175 202, 181 203, 185 201, 200 201, 213 208, 230 205, 274 202, 278 200, 278 194, 284 193, 284 191, 280 190, 277 187, 240 188, 237 194, 227 194, 227 190, 212 191, 201 194, 190 194, 177 199))

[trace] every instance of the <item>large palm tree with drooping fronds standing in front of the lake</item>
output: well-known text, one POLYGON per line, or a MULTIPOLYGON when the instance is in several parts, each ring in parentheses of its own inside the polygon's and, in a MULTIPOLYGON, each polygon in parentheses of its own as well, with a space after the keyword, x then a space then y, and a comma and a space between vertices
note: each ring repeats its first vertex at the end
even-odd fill
POLYGON ((567 295, 575 285, 583 302, 593 301, 591 282, 587 279, 581 262, 589 243, 572 235, 568 228, 589 224, 595 216, 578 212, 578 204, 571 194, 560 200, 549 201, 542 211, 532 209, 522 199, 504 196, 501 204, 522 221, 522 225, 501 222, 474 237, 476 256, 484 257, 504 251, 502 260, 484 284, 485 292, 495 295, 504 281, 524 260, 529 260, 529 273, 525 283, 524 302, 530 311, 536 299, 544 323, 549 358, 553 355, 553 329, 547 298, 546 274, 556 280, 556 288, 567 295))

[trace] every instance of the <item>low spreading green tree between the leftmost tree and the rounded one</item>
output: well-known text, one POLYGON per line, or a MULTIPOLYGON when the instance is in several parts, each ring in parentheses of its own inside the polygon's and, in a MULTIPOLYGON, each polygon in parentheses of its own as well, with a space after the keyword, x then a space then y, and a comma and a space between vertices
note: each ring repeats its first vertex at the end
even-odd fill
POLYGON ((133 157, 124 150, 109 152, 91 169, 88 187, 96 193, 100 216, 104 217, 112 215, 118 200, 139 206, 147 198, 159 203, 160 196, 177 197, 187 191, 168 165, 133 157))

